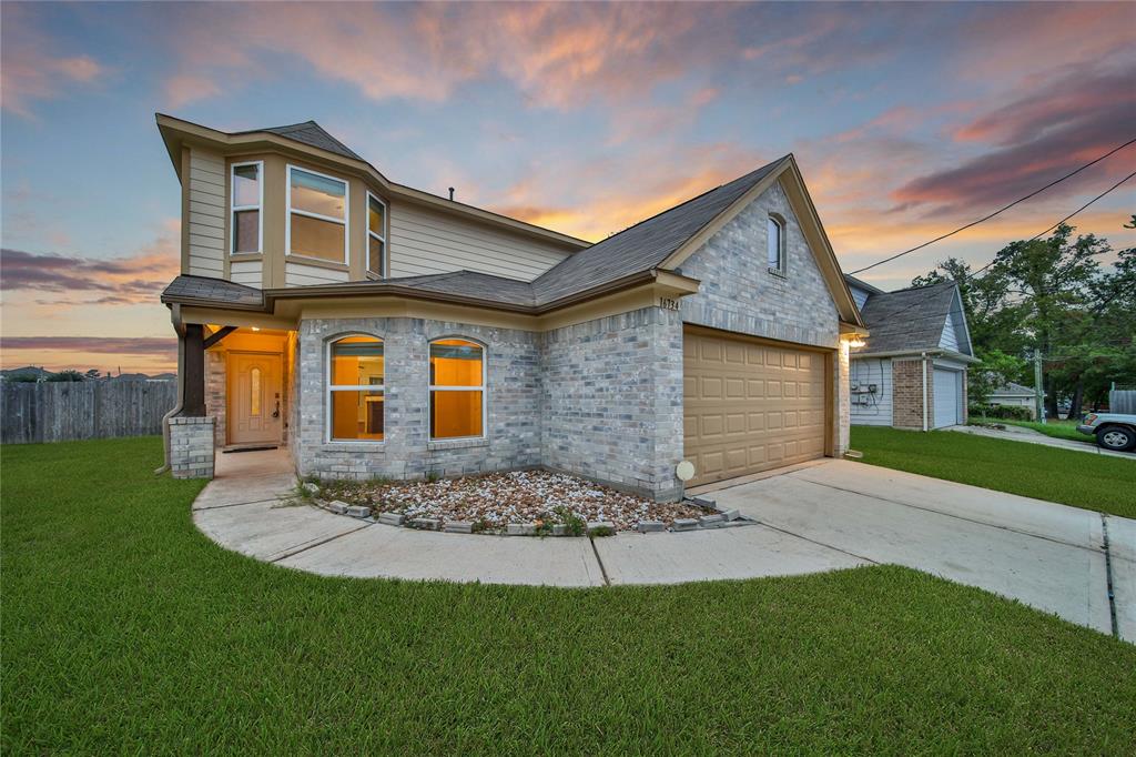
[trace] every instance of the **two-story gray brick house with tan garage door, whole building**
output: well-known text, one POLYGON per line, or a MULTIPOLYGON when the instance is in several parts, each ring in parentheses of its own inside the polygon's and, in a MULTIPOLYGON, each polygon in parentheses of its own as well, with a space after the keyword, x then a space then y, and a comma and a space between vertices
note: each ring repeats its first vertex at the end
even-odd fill
POLYGON ((543 466, 660 500, 847 447, 866 333, 792 156, 602 242, 396 184, 314 122, 158 126, 182 183, 175 475, 543 466))

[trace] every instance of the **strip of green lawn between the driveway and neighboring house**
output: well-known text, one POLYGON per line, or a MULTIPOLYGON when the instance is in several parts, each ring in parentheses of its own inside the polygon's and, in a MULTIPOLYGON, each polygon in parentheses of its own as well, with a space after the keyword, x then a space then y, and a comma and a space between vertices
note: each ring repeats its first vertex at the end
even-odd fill
POLYGON ((1136 517, 1136 459, 957 431, 852 427, 863 461, 925 476, 1136 517))

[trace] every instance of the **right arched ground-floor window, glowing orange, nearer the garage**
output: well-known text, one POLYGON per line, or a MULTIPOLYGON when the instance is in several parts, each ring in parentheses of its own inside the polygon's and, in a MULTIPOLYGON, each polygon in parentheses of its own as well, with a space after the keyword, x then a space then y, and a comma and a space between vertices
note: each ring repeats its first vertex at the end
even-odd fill
POLYGON ((431 439, 485 435, 485 349, 463 339, 429 343, 431 439))

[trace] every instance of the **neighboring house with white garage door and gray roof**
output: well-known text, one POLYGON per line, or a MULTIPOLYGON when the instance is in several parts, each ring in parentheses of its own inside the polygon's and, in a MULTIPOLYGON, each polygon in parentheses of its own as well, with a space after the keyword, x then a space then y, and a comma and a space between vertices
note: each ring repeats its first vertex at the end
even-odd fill
POLYGON ((851 352, 858 425, 943 429, 967 422, 967 367, 977 363, 954 282, 885 292, 844 278, 870 335, 851 352))

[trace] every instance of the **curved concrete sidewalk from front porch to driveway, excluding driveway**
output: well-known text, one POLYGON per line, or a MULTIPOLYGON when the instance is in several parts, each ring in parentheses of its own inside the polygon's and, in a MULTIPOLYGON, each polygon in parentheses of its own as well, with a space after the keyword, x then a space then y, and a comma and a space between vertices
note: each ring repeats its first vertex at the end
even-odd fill
POLYGON ((396 529, 307 505, 283 450, 218 456, 193 504, 197 526, 257 559, 323 575, 599 587, 816 573, 868 565, 838 549, 752 525, 602 539, 488 536, 396 529))

